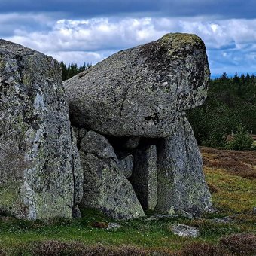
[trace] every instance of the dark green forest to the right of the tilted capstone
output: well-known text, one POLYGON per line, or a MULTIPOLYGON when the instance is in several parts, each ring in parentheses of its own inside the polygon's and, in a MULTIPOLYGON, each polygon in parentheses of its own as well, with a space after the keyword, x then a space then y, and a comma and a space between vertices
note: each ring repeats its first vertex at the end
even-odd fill
POLYGON ((235 74, 229 78, 223 73, 211 79, 206 102, 187 111, 187 118, 199 145, 227 147, 227 135, 231 133, 256 133, 255 75, 235 74))

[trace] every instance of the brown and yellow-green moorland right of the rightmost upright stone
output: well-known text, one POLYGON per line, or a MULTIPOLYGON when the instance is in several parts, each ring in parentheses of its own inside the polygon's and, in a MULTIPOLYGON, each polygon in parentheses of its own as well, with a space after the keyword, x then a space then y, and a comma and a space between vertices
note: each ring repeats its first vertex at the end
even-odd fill
POLYGON ((215 207, 230 215, 251 212, 256 206, 256 152, 205 147, 200 151, 215 207))

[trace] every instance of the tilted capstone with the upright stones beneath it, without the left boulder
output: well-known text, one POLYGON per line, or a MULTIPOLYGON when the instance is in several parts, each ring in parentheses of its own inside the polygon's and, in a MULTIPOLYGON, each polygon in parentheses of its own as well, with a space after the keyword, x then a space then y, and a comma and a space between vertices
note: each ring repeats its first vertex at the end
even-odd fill
MULTIPOLYGON (((110 150, 102 138, 99 143, 99 135, 93 141, 87 136, 81 140, 81 149, 86 148, 81 154, 84 190, 90 195, 84 197, 84 206, 100 208, 114 202, 108 209, 126 212, 119 196, 106 190, 105 184, 119 191, 119 184, 130 184, 123 178, 131 173, 129 181, 144 209, 197 216, 212 206, 202 157, 184 114, 204 102, 208 81, 203 41, 175 33, 120 51, 64 82, 72 123, 102 133, 114 146, 110 150), (132 154, 134 161, 132 156, 120 157, 123 152, 132 154), (93 184, 100 184, 99 188, 95 190, 93 184)), ((136 202, 131 195, 124 198, 136 202)))

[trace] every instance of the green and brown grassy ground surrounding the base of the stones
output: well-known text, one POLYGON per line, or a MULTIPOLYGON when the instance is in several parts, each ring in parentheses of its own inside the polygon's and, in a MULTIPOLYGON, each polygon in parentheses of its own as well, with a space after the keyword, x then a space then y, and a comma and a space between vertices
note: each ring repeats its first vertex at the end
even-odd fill
POLYGON ((256 241, 256 215, 252 214, 256 206, 256 152, 200 150, 218 213, 193 220, 120 221, 122 227, 117 230, 106 230, 106 224, 114 220, 91 209, 75 220, 22 221, 2 216, 0 255, 231 255, 246 248, 246 254, 251 254, 256 241), (234 215, 233 222, 212 221, 225 215, 234 215), (200 237, 175 236, 171 227, 180 223, 198 227, 200 237), (234 247, 237 237, 249 237, 248 246, 242 242, 241 248, 234 247))

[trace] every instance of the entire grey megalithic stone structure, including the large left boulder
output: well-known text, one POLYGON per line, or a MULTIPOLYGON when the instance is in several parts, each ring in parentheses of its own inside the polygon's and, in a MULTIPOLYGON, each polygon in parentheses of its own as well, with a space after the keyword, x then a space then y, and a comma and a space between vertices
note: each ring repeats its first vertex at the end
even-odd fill
POLYGON ((60 74, 54 59, 0 41, 0 213, 75 218, 81 206, 129 219, 142 206, 172 216, 212 206, 184 114, 206 99, 200 38, 123 50, 66 81, 66 93, 60 74))

